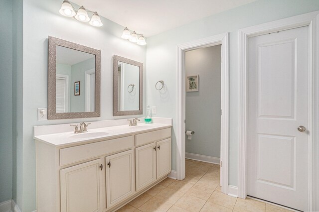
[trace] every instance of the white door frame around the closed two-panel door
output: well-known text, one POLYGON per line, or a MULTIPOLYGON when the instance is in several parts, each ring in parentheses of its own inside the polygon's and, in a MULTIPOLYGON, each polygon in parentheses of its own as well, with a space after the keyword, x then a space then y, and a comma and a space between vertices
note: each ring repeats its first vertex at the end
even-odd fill
MULTIPOLYGON (((298 16, 293 16, 269 23, 264 23, 256 26, 240 29, 238 33, 239 40, 239 69, 240 69, 240 136, 239 136, 239 160, 238 160, 238 197, 245 199, 247 196, 247 139, 248 139, 248 91, 247 91, 247 60, 248 60, 248 38, 258 35, 268 34, 272 32, 298 28, 302 26, 309 27, 309 108, 308 108, 308 125, 309 125, 309 139, 308 139, 308 210, 314 209, 314 166, 315 162, 315 137, 318 139, 318 93, 315 93, 315 88, 318 89, 318 71, 319 63, 314 58, 319 57, 319 11, 310 12, 298 16), (316 57, 315 57, 316 56, 316 57), (316 71, 316 72, 315 72, 316 71), (316 73, 316 74, 315 74, 316 73), (316 117, 314 117, 316 115, 316 117), (312 132, 312 133, 311 133, 312 132)), ((316 155, 318 158, 318 155, 316 155)))

